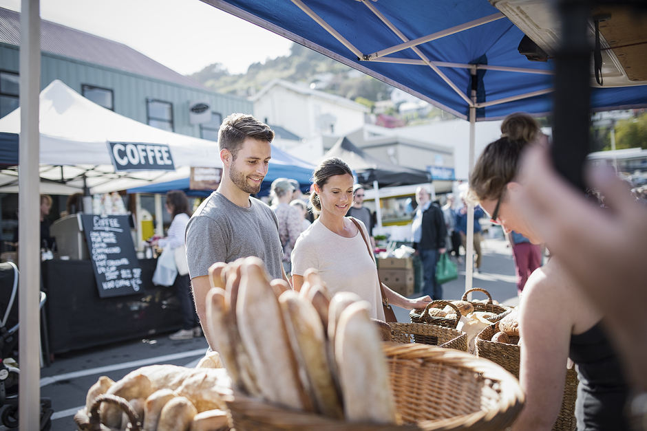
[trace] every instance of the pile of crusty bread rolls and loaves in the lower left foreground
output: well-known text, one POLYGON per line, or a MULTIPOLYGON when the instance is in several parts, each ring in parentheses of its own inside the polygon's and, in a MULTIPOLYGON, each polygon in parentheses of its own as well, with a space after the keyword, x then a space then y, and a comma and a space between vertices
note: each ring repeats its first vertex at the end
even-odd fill
MULTIPOLYGON (((196 368, 151 365, 127 374, 118 382, 102 376, 87 392, 85 419, 96 397, 116 395, 129 401, 146 431, 229 430, 226 405, 221 394, 231 393, 231 380, 222 368, 220 355, 206 355, 196 368)), ((102 403, 101 423, 126 430, 129 419, 119 406, 102 403)), ((85 420, 84 420, 85 421, 85 420)))

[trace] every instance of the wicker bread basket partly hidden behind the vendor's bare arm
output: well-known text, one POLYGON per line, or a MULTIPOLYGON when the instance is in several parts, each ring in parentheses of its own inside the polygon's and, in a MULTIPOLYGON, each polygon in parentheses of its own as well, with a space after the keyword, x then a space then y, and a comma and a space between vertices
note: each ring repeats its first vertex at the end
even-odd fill
MULTIPOLYGON (((491 341, 492 336, 499 331, 498 322, 491 324, 476 335, 476 356, 499 364, 507 371, 519 378, 519 364, 521 359, 521 347, 516 344, 506 344, 491 341)), ((514 340, 518 341, 518 340, 514 340)), ((575 399, 577 399, 577 372, 575 369, 566 371, 566 382, 564 384, 564 396, 562 407, 553 431, 572 431, 577 425, 575 421, 575 399)))

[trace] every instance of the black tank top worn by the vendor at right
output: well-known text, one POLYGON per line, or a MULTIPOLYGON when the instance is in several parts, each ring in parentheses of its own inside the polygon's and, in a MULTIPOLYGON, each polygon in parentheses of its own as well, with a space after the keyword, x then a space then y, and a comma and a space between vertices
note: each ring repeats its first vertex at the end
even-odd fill
POLYGON ((628 386, 600 322, 580 335, 571 335, 569 357, 577 364, 580 377, 575 401, 577 431, 630 430, 624 416, 628 386))

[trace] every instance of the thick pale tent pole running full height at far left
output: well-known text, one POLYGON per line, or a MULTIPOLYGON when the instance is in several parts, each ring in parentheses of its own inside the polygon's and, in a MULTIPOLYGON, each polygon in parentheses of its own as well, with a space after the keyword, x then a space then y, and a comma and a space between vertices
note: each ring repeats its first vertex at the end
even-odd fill
POLYGON ((19 408, 20 430, 40 429, 39 300, 40 177, 39 96, 41 92, 41 23, 39 0, 21 1, 20 144, 19 144, 19 408))

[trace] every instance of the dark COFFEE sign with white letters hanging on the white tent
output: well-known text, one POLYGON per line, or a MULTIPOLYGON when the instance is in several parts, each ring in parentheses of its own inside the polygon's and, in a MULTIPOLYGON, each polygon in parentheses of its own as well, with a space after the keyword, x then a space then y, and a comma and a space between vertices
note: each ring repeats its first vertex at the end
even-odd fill
POLYGON ((115 172, 131 170, 176 170, 171 148, 165 144, 108 142, 115 172))

